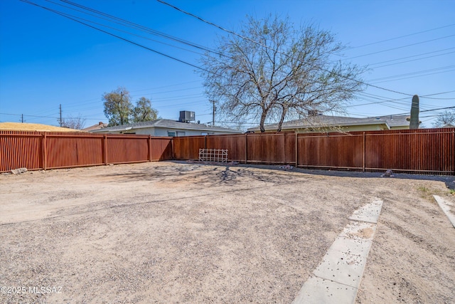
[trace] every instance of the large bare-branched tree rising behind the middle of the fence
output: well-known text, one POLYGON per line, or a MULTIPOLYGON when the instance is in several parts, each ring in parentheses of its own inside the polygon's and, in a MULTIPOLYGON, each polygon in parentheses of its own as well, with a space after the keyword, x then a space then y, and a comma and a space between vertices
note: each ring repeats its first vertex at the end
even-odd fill
POLYGON ((342 110, 343 103, 362 90, 363 68, 333 56, 343 49, 333 34, 309 25, 295 30, 289 19, 247 18, 241 36, 220 38, 218 53, 202 58, 205 88, 218 100, 225 119, 278 122, 311 111, 342 110))

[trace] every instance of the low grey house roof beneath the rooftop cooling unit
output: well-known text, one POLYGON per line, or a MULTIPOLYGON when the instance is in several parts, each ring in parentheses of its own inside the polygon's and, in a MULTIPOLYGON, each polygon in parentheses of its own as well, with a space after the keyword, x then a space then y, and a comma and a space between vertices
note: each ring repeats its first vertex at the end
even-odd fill
POLYGON ((212 127, 208 125, 198 124, 198 123, 188 123, 188 122, 177 122, 175 120, 151 120, 148 122, 134 122, 127 125, 116 125, 114 127, 104 127, 98 130, 92 130, 90 132, 119 132, 127 130, 136 130, 136 129, 145 129, 150 127, 159 127, 166 129, 176 129, 176 130, 199 130, 207 132, 230 132, 230 133, 241 133, 237 130, 228 129, 225 127, 212 127))

